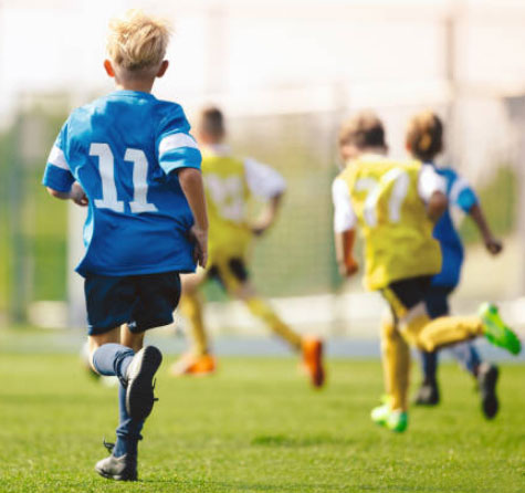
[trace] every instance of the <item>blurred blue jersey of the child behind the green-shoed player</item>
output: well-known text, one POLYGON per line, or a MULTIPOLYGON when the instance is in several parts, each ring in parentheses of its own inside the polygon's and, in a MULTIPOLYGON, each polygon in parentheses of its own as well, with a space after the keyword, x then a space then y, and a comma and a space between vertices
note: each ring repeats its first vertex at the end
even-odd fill
POLYGON ((434 227, 433 237, 440 242, 442 254, 441 272, 432 279, 432 284, 453 287, 460 282, 463 264, 463 245, 450 214, 450 207, 458 207, 468 213, 477 203, 477 197, 466 180, 451 168, 435 168, 447 180, 449 209, 434 227))

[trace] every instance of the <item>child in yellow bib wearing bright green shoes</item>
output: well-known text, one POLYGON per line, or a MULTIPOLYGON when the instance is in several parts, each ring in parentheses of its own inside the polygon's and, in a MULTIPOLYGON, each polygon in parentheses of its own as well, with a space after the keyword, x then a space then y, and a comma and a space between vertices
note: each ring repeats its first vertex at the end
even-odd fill
POLYGON ((390 306, 381 329, 387 401, 372 410, 375 422, 392 431, 408 426, 409 345, 428 352, 486 335, 511 353, 519 340, 485 305, 480 316, 430 319, 424 296, 440 272, 434 222, 447 209, 445 182, 431 166, 386 157, 382 123, 361 113, 339 134, 346 169, 333 185, 337 262, 344 275, 356 271, 351 248, 355 230, 365 240, 365 285, 379 290, 390 306))

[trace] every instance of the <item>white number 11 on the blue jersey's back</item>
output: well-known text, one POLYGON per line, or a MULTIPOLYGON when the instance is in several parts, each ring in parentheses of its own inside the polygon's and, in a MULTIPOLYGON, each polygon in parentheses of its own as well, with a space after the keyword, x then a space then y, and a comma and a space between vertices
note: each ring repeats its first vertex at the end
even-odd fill
MULTIPOLYGON (((98 158, 98 172, 102 179, 102 199, 95 200, 95 207, 124 212, 124 202, 117 198, 115 185, 115 158, 107 144, 94 143, 90 147, 90 156, 98 158)), ((124 160, 133 162, 133 201, 129 207, 133 213, 155 212, 155 204, 147 201, 148 197, 148 159, 140 149, 126 149, 124 160)))

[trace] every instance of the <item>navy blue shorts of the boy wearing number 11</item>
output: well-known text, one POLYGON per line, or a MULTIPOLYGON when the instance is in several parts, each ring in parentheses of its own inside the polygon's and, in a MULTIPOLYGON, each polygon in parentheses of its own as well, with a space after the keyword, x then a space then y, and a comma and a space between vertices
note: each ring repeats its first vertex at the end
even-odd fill
POLYGON ((87 333, 104 334, 122 324, 140 333, 174 322, 179 304, 178 272, 126 276, 86 276, 87 333))

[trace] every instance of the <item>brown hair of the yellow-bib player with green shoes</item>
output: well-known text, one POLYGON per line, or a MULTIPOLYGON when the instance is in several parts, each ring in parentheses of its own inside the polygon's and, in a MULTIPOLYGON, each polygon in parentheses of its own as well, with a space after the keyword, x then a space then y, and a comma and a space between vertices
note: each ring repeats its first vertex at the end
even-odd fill
POLYGON ((339 146, 345 145, 353 145, 358 149, 386 147, 382 122, 370 111, 356 114, 339 129, 339 146))

